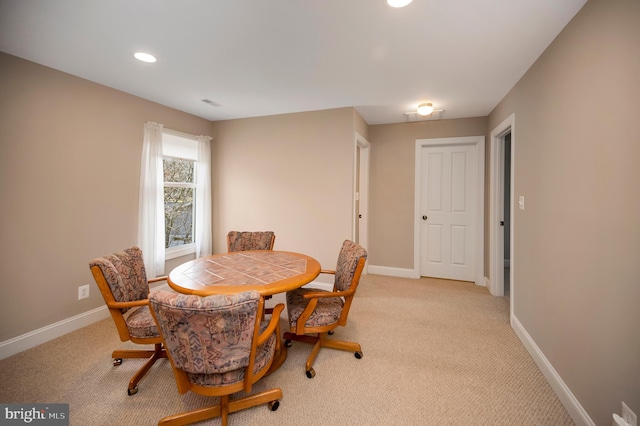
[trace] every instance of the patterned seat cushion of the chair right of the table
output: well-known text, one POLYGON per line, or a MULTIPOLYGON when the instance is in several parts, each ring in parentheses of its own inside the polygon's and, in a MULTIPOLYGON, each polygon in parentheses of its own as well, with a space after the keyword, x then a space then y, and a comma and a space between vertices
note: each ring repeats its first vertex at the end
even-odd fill
MULTIPOLYGON (((317 288, 299 288, 287 292, 287 311, 289 312, 289 326, 294 329, 298 323, 298 318, 307 307, 309 299, 304 298, 304 294, 310 292, 324 292, 326 290, 317 288)), ((335 324, 340 319, 344 301, 341 297, 327 297, 318 299, 316 309, 313 311, 305 327, 323 327, 335 324)))

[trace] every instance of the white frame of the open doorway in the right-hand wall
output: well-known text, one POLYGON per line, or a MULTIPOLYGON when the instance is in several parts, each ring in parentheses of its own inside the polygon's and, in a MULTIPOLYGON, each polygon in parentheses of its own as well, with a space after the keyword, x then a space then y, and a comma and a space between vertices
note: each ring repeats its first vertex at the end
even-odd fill
POLYGON ((509 205, 509 298, 513 312, 514 300, 514 200, 515 200, 515 114, 511 114, 491 131, 490 204, 489 204, 489 293, 493 296, 504 296, 504 234, 500 226, 500 217, 504 212, 504 137, 511 133, 511 180, 509 205))

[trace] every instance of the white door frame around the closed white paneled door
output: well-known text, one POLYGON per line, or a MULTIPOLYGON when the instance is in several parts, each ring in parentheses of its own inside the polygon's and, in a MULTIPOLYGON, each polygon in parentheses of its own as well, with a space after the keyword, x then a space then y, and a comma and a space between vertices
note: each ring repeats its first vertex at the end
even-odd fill
POLYGON ((413 212, 413 277, 420 278, 420 225, 422 199, 421 150, 427 146, 474 145, 476 147, 476 241, 475 241, 475 283, 485 285, 484 279, 484 136, 457 138, 416 139, 415 149, 415 194, 413 212))

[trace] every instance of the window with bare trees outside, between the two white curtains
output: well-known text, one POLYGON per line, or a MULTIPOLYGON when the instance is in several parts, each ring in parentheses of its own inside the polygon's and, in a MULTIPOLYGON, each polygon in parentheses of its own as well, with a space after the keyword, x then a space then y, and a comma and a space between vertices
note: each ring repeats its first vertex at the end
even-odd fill
POLYGON ((198 142, 163 130, 164 248, 171 259, 195 252, 198 142))

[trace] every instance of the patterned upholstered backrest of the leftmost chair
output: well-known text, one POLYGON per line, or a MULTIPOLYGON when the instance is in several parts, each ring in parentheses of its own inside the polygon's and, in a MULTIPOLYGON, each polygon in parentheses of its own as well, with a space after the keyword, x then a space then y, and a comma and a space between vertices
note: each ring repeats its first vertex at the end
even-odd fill
MULTIPOLYGON (((113 253, 89 262, 98 287, 101 279, 98 268, 109 286, 110 293, 116 302, 131 302, 146 299, 149 296, 149 283, 144 269, 142 250, 131 247, 122 252, 113 253)), ((103 288, 100 288, 105 302, 110 302, 103 288)), ((126 311, 126 309, 124 310, 126 311)))

